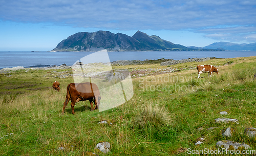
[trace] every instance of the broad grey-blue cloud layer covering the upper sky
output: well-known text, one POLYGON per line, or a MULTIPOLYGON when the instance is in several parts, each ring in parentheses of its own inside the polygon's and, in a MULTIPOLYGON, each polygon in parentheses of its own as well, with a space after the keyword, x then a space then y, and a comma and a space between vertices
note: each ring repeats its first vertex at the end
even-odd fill
POLYGON ((187 30, 256 41, 256 1, 0 0, 0 19, 119 30, 187 30))

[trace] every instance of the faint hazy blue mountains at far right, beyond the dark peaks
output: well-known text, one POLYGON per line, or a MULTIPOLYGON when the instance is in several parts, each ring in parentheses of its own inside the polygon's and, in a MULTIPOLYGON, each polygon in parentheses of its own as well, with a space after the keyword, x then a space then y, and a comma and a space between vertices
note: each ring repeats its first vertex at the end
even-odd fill
POLYGON ((256 51, 256 42, 250 43, 250 44, 237 44, 237 43, 230 43, 230 42, 215 42, 212 44, 209 44, 206 47, 203 47, 204 49, 218 49, 222 48, 225 50, 231 50, 231 51, 256 51))

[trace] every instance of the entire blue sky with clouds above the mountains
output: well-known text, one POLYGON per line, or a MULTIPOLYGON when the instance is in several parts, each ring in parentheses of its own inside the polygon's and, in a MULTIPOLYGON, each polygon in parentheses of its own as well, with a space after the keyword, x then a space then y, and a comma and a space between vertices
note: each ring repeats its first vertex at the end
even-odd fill
POLYGON ((77 32, 133 36, 183 46, 256 42, 256 1, 0 0, 0 51, 49 51, 77 32))

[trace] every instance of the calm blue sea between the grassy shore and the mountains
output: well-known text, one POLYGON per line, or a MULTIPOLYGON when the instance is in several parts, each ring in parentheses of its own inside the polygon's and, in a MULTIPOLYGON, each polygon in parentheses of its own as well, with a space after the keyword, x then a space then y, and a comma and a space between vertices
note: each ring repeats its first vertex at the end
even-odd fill
MULTIPOLYGON (((73 65, 80 58, 94 52, 0 52, 0 69, 12 68, 14 66, 44 67, 51 65, 73 65)), ((145 60, 145 59, 187 59, 193 57, 248 57, 256 56, 256 52, 241 51, 174 51, 174 52, 108 52, 110 61, 116 60, 145 60)))

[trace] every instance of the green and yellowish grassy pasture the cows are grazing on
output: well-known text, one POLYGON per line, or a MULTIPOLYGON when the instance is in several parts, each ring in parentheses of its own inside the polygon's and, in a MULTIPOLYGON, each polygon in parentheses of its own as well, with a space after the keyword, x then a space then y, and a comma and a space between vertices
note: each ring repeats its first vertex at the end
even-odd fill
MULTIPOLYGON (((202 74, 201 79, 197 79, 196 70, 184 69, 195 67, 197 62, 172 65, 170 67, 181 72, 134 78, 133 98, 117 108, 90 112, 88 101, 79 102, 75 106, 76 115, 71 114, 69 104, 63 116, 61 109, 66 86, 73 79, 58 76, 63 74, 61 72, 71 73, 71 70, 50 70, 51 73, 22 70, 2 74, 0 155, 81 155, 85 151, 98 155, 186 155, 188 148, 217 148, 216 143, 225 140, 221 130, 228 126, 236 130, 229 140, 246 143, 255 149, 255 139, 244 134, 246 127, 256 127, 255 58, 214 59, 199 63, 219 66, 220 71, 212 78, 202 74), (234 63, 223 65, 228 61, 234 63), (9 75, 12 76, 7 77, 9 75), (60 82, 60 92, 51 90, 55 80, 60 82), (164 105, 174 114, 173 124, 161 130, 135 127, 133 121, 138 106, 151 103, 164 105), (222 110, 228 115, 220 115, 222 110), (217 124, 214 119, 219 117, 238 119, 239 125, 217 124), (113 124, 97 124, 102 120, 113 124), (219 128, 207 130, 213 126, 219 128), (197 130, 199 127, 203 130, 197 130), (204 143, 195 146, 199 137, 205 137, 204 143), (111 143, 111 153, 103 154, 94 149, 101 141, 111 143), (65 149, 58 150, 59 147, 65 149)), ((166 66, 147 64, 115 68, 161 69, 166 66)))

